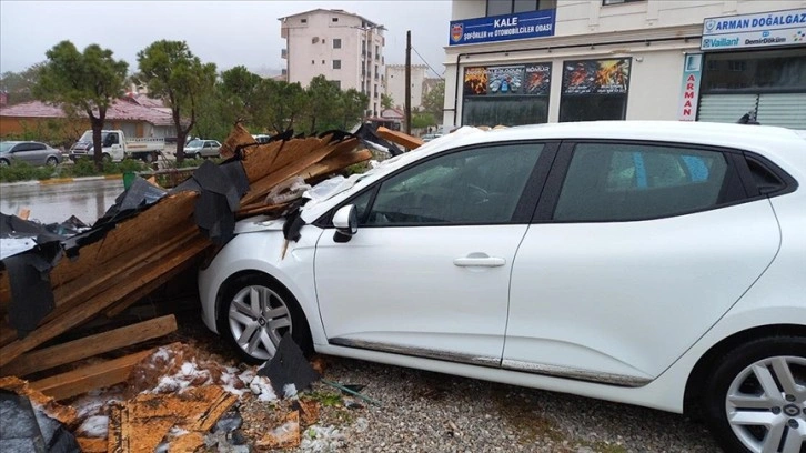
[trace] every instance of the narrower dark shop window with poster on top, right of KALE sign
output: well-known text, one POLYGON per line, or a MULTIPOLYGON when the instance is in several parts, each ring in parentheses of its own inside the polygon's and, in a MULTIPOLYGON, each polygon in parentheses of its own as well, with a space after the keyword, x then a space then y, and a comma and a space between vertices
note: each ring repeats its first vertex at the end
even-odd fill
POLYGON ((629 66, 628 58, 564 62, 560 121, 625 119, 629 66))

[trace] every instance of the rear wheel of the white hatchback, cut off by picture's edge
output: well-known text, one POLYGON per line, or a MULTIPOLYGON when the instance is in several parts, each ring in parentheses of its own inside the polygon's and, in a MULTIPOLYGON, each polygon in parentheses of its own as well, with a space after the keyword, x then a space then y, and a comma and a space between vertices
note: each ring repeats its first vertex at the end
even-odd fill
POLYGON ((736 348, 711 373, 704 397, 725 451, 805 451, 806 339, 774 336, 736 348))

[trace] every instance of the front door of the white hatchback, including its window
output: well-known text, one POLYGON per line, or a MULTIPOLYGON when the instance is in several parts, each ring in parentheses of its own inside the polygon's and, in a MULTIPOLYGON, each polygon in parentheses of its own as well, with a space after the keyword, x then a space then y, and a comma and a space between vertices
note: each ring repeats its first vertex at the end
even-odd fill
POLYGON ((329 342, 498 366, 512 262, 551 147, 443 153, 350 200, 357 233, 340 243, 326 228, 316 245, 329 342))

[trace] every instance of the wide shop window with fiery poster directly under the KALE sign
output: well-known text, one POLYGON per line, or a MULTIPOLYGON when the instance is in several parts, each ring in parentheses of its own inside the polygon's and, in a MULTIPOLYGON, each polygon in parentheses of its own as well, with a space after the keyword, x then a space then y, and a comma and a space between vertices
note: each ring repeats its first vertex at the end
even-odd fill
POLYGON ((464 71, 463 125, 518 125, 548 121, 552 64, 474 67, 464 71))

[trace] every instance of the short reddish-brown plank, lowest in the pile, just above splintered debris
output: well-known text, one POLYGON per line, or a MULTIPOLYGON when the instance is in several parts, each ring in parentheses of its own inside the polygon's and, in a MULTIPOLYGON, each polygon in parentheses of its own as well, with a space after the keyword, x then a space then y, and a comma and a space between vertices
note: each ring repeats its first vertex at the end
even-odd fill
POLYGON ((56 400, 64 400, 80 395, 94 389, 101 389, 124 382, 132 368, 141 360, 150 356, 153 350, 141 351, 120 359, 109 360, 84 366, 67 373, 57 374, 31 383, 31 387, 39 390, 56 400))

